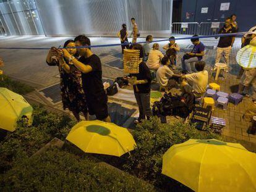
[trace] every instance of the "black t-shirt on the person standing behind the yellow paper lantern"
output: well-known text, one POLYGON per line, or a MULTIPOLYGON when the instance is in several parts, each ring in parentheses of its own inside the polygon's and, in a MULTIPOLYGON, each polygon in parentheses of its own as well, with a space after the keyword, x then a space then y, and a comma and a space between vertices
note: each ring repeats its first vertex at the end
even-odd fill
POLYGON ((130 76, 137 77, 137 80, 148 80, 148 83, 134 85, 135 93, 150 93, 150 85, 151 85, 151 75, 148 66, 145 62, 141 62, 139 65, 139 73, 130 74, 130 76), (138 90, 136 89, 136 86, 138 90))

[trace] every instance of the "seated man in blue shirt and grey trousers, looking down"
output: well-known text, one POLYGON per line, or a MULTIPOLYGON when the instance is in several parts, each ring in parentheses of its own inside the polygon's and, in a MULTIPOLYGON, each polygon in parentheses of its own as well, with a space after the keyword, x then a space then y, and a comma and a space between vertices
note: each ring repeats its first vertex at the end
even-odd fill
POLYGON ((186 52, 181 59, 182 70, 184 73, 197 72, 195 70, 194 62, 201 61, 205 55, 205 46, 199 41, 198 35, 194 35, 191 42, 194 44, 194 48, 190 52, 186 52))

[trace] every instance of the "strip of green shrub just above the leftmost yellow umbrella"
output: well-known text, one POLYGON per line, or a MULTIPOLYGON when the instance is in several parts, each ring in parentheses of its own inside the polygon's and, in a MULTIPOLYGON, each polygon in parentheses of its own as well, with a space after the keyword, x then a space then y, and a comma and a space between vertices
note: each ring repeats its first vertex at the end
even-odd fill
POLYGON ((5 87, 15 93, 26 94, 34 90, 31 86, 20 83, 19 81, 11 80, 11 78, 6 75, 4 75, 3 78, 4 80, 0 80, 0 87, 5 87))

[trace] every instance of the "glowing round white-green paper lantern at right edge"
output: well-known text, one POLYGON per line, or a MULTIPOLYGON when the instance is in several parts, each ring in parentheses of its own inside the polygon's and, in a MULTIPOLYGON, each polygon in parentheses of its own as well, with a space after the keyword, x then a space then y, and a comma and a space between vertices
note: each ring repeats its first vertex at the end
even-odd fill
POLYGON ((236 61, 245 69, 256 67, 256 39, 252 40, 249 45, 240 49, 236 55, 236 61))

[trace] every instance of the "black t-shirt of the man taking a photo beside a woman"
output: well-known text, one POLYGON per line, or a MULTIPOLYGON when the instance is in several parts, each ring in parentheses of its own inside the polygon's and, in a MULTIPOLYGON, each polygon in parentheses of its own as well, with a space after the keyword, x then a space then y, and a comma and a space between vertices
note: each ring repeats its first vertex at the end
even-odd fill
POLYGON ((92 67, 92 72, 82 73, 83 91, 87 98, 93 99, 97 96, 101 96, 101 94, 106 94, 102 82, 100 58, 93 54, 88 58, 80 57, 79 61, 92 67))

